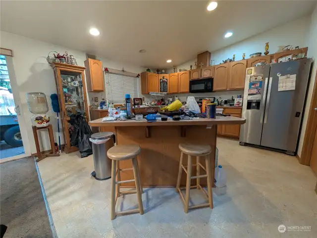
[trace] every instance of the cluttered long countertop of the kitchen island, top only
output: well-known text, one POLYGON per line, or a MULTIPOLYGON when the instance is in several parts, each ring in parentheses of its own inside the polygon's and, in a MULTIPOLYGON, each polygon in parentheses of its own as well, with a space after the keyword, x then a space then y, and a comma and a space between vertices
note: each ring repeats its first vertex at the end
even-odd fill
POLYGON ((233 116, 218 116, 216 119, 199 118, 193 120, 180 120, 180 121, 156 121, 147 122, 146 119, 142 121, 126 120, 126 121, 107 121, 102 122, 102 118, 90 121, 88 124, 92 127, 131 127, 131 126, 192 126, 192 125, 206 125, 212 126, 217 124, 244 124, 246 120, 239 117, 233 116))

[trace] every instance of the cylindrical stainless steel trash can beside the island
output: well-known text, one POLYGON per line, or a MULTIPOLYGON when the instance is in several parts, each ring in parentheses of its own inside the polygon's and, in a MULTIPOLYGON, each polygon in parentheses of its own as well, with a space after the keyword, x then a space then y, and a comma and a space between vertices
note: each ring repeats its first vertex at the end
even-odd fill
POLYGON ((114 145, 112 132, 99 132, 91 135, 93 145, 93 157, 95 171, 91 173, 97 180, 111 178, 111 159, 107 156, 107 151, 114 145), (103 142, 105 141, 105 142, 103 142))

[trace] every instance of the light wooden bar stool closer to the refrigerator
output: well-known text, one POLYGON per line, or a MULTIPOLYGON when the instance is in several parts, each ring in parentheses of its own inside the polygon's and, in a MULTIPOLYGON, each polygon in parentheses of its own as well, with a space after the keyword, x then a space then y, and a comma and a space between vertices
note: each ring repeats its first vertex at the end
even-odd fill
POLYGON ((188 213, 188 209, 192 208, 199 208, 199 207, 207 207, 213 208, 213 201, 212 201, 212 190, 211 190, 211 164, 210 164, 210 157, 209 154, 211 153, 211 146, 210 145, 199 145, 199 144, 191 144, 191 143, 180 143, 178 145, 179 149, 181 150, 180 155, 180 162, 179 162, 179 169, 178 169, 178 177, 177 177, 177 184, 176 184, 176 191, 179 192, 180 197, 184 204, 184 211, 188 213), (183 155, 188 155, 188 162, 187 166, 184 166, 183 163, 183 155), (192 156, 197 156, 197 163, 192 163, 192 156), (200 157, 205 156, 206 168, 200 163, 200 157), (192 177, 192 166, 197 166, 197 175, 192 177), (187 169, 186 169, 187 167, 187 169), (206 175, 200 175, 200 168, 206 171, 206 175), (186 188, 179 188, 180 180, 182 177, 182 171, 185 171, 187 174, 186 180, 186 188), (207 187, 208 187, 208 194, 200 185, 200 178, 207 177, 207 187), (191 186, 191 180, 197 179, 196 186, 191 186), (189 192, 190 189, 197 188, 204 192, 208 199, 208 203, 198 204, 189 206, 189 192), (186 189, 185 198, 181 190, 186 189))

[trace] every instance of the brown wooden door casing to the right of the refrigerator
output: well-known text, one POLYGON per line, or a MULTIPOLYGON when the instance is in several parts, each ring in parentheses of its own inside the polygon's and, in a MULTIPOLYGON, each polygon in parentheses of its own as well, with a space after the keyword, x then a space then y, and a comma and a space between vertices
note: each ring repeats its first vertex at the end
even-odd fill
POLYGON ((304 142, 302 148, 302 154, 299 158, 299 162, 303 165, 310 165, 315 133, 317 130, 317 113, 314 113, 314 109, 317 107, 317 70, 315 77, 315 84, 313 89, 313 95, 311 100, 311 105, 309 107, 309 114, 307 119, 307 125, 305 129, 304 142))

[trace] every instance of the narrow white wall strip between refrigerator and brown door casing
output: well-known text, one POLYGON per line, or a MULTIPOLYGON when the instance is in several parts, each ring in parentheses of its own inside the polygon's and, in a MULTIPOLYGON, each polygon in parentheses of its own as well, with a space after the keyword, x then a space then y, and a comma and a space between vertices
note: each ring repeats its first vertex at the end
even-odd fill
POLYGON ((307 38, 307 45, 308 45, 308 57, 312 57, 315 60, 315 62, 313 65, 312 76, 311 76, 311 81, 310 81, 310 86, 309 86, 307 101, 306 101, 306 106, 305 106, 305 114, 303 117, 302 131, 301 131, 300 140, 299 140, 299 144, 298 144, 298 152, 297 153, 299 156, 301 156, 301 154, 302 154, 304 135, 305 135, 307 120, 308 120, 309 107, 310 107, 311 101, 312 101, 312 95, 313 95, 313 89, 314 89, 316 71, 317 71, 317 62, 316 62, 316 60, 317 60, 317 4, 316 4, 315 10, 311 16, 311 23, 310 23, 310 29, 309 29, 309 34, 308 34, 308 38, 307 38))

